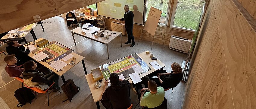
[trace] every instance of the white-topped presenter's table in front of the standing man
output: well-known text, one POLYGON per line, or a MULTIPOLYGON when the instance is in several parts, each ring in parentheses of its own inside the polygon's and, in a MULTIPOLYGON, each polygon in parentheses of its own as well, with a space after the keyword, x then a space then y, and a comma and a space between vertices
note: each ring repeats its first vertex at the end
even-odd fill
MULTIPOLYGON (((74 38, 74 34, 82 36, 82 37, 85 37, 85 38, 88 38, 88 39, 91 39, 91 40, 99 42, 101 44, 106 44, 107 52, 108 52, 108 43, 110 43, 117 36, 121 36, 121 47, 122 47, 122 35, 121 35, 122 32, 105 30, 103 33, 108 32, 108 33, 116 33, 116 34, 112 34, 114 36, 109 36, 109 39, 104 39, 103 37, 100 37, 99 34, 98 34, 98 38, 95 38, 92 34, 88 33, 88 32, 90 32, 92 30, 99 30, 100 28, 93 26, 93 27, 88 27, 88 29, 89 30, 83 30, 86 34, 82 34, 81 33, 82 32, 82 28, 81 27, 76 27, 75 29, 70 30, 71 34, 73 36, 73 40, 74 40, 75 45, 76 45, 76 41, 75 41, 75 38, 74 38)), ((104 35, 104 36, 106 36, 106 35, 104 35)), ((108 53, 108 59, 109 59, 109 53, 108 53)))

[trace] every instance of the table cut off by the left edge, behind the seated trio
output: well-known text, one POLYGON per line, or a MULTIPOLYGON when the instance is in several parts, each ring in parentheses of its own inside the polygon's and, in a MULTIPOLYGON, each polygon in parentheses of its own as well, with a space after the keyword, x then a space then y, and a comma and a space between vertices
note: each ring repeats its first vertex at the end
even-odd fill
MULTIPOLYGON (((4 42, 5 42, 5 40, 9 40, 9 39, 23 38, 24 42, 27 44, 27 40, 25 39, 25 36, 27 36, 28 32, 30 32, 31 35, 32 35, 32 37, 33 37, 33 39, 36 40, 37 38, 36 38, 36 34, 34 33, 33 28, 36 26, 37 23, 38 23, 38 22, 33 23, 33 26, 30 27, 29 30, 27 30, 26 32, 23 32, 24 35, 22 35, 22 33, 20 33, 21 36, 19 36, 19 37, 10 37, 10 38, 9 38, 9 36, 17 35, 17 33, 10 33, 10 34, 8 33, 8 34, 6 34, 5 36, 3 36, 3 37, 1 38, 1 40, 4 40, 4 42)), ((26 25, 26 26, 20 27, 20 28, 26 28, 27 26, 29 26, 29 25, 26 25)), ((20 32, 20 31, 18 30, 18 32, 20 32)))

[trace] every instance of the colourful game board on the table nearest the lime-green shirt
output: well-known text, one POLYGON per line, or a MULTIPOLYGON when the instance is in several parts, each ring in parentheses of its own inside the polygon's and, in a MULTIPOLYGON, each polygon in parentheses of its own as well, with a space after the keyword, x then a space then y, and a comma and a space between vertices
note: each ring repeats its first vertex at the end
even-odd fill
POLYGON ((99 66, 101 73, 107 79, 111 73, 123 74, 125 79, 130 79, 131 73, 144 73, 151 68, 138 56, 137 53, 117 59, 113 62, 99 66))

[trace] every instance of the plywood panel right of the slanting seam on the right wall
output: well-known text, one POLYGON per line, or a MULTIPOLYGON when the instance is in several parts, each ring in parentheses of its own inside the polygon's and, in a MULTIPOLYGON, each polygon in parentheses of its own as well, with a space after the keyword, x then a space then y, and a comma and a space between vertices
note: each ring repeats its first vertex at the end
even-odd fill
POLYGON ((214 6, 235 108, 255 109, 256 33, 233 1, 217 0, 214 6))

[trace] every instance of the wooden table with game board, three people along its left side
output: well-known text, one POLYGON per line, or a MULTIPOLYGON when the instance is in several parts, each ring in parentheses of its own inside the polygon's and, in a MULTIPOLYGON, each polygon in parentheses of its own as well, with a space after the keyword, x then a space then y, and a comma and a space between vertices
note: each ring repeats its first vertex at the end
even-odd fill
MULTIPOLYGON (((43 38, 39 38, 39 39, 36 40, 36 42, 37 42, 38 40, 42 40, 42 39, 43 39, 43 38)), ((32 42, 30 42, 30 43, 32 44, 32 42)), ((25 45, 27 45, 27 44, 25 44, 25 45)), ((24 47, 26 47, 25 45, 24 45, 24 47)), ((36 46, 36 44, 34 44, 34 46, 36 46)), ((65 78, 64 78, 64 76, 63 76, 64 73, 66 73, 68 70, 70 70, 72 67, 74 67, 77 63, 79 63, 79 62, 81 62, 81 61, 82 61, 82 64, 83 64, 84 72, 85 72, 85 74, 87 74, 86 67, 85 67, 84 60, 83 60, 84 57, 83 57, 83 56, 80 56, 80 55, 78 55, 78 54, 76 54, 76 53, 73 53, 73 52, 72 52, 71 54, 73 54, 74 57, 76 58, 75 64, 73 64, 73 65, 67 64, 65 67, 63 67, 63 68, 61 69, 62 71, 58 71, 58 72, 57 72, 57 70, 55 70, 54 68, 50 67, 47 62, 42 62, 42 61, 40 61, 39 63, 42 64, 43 66, 47 67, 48 69, 52 70, 54 73, 58 74, 59 76, 61 76, 62 81, 65 83, 66 80, 65 80, 65 78), (63 69, 64 69, 64 70, 63 70, 63 69)), ((30 52, 30 53, 28 54, 28 56, 30 56, 30 57, 32 58, 33 56, 35 56, 35 54, 33 54, 33 53, 30 52)), ((33 58, 32 58, 32 59, 33 59, 33 58)), ((69 63, 71 60, 72 60, 72 58, 69 59, 69 60, 67 60, 67 61, 64 61, 63 59, 61 59, 61 61, 66 62, 66 63, 69 63)), ((37 60, 35 60, 35 61, 37 61, 37 60)), ((37 62, 38 62, 38 61, 37 61, 37 62)))

